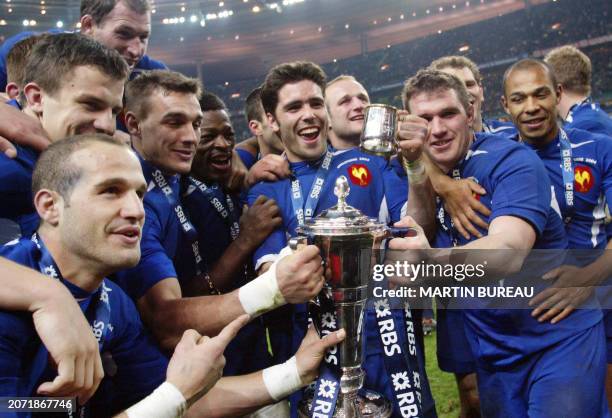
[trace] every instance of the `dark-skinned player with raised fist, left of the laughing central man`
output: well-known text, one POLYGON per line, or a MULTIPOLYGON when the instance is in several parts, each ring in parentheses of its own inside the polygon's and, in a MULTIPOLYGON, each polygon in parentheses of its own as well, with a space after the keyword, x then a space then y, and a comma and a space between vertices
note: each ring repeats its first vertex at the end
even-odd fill
MULTIPOLYGON (((179 254, 175 265, 186 296, 229 293, 251 281, 253 251, 281 223, 274 201, 262 196, 244 211, 240 196, 223 187, 231 173, 234 129, 225 104, 215 94, 204 92, 200 107, 200 143, 191 177, 182 179, 181 199, 198 232, 210 281, 193 280, 197 270, 193 255, 190 251, 179 254)), ((250 373, 272 364, 261 318, 243 327, 225 356, 225 376, 250 373)))

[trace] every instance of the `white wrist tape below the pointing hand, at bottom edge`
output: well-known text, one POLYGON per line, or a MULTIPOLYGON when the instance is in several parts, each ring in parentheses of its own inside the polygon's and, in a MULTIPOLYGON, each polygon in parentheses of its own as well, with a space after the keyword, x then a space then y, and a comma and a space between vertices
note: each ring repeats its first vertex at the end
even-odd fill
POLYGON ((129 418, 180 418, 186 410, 187 401, 181 391, 164 382, 125 413, 129 418))

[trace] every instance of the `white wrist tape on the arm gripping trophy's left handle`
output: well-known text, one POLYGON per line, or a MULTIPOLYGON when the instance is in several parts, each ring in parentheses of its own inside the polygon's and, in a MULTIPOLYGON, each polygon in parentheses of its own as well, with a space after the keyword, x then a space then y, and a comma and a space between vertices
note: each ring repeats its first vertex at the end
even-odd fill
POLYGON ((238 298, 246 313, 255 317, 284 305, 285 298, 278 288, 276 280, 276 265, 285 256, 291 254, 291 249, 285 247, 279 257, 261 276, 245 284, 238 290, 238 298))

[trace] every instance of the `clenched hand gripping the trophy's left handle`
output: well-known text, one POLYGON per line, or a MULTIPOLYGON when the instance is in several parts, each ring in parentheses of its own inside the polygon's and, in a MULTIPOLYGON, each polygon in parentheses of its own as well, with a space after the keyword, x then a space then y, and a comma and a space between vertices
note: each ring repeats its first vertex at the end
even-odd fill
POLYGON ((307 245, 282 258, 276 266, 276 279, 287 303, 304 303, 315 297, 325 282, 319 249, 307 245))

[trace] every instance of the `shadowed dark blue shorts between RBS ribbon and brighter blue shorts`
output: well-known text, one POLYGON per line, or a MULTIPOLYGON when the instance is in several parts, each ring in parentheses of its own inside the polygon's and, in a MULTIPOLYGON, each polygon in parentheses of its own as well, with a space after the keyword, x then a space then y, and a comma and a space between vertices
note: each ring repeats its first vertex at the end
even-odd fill
POLYGON ((465 334, 462 310, 437 309, 437 355, 440 370, 469 374, 476 371, 476 362, 465 334))

